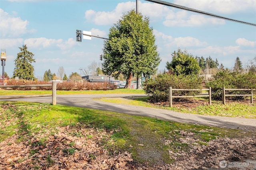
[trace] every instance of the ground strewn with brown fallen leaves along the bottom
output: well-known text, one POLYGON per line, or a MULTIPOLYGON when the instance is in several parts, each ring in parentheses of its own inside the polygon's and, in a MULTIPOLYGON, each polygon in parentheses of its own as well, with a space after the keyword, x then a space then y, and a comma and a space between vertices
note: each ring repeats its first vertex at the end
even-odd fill
MULTIPOLYGON (((44 133, 16 143, 18 135, 0 143, 1 170, 194 170, 256 169, 256 136, 244 138, 219 138, 207 145, 198 145, 192 133, 180 131, 180 143, 187 143, 188 150, 169 151, 174 160, 164 164, 135 162, 128 152, 110 154, 102 144, 111 132, 96 129, 60 127, 58 133, 44 133), (79 132, 79 133, 78 133, 79 132), (44 140, 43 140, 44 139, 44 140), (47 141, 47 142, 46 142, 47 141)), ((24 136, 26 138, 26 136, 24 136)), ((168 144, 170 141, 165 141, 168 144)))

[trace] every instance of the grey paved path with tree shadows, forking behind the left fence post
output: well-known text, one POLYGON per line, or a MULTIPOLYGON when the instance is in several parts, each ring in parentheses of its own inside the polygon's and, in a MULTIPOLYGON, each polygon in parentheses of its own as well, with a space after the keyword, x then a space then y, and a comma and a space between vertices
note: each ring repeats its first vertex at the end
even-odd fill
MULTIPOLYGON (((93 100, 93 98, 101 97, 134 97, 145 96, 144 94, 97 94, 97 95, 57 95, 57 104, 66 106, 86 107, 91 109, 99 109, 106 111, 114 111, 118 113, 125 113, 129 115, 154 117, 163 120, 175 121, 180 123, 192 123, 198 125, 209 125, 215 127, 225 127, 229 129, 243 129, 256 131, 256 119, 235 118, 235 117, 220 117, 208 115, 195 115, 188 113, 179 113, 176 111, 155 109, 141 106, 130 106, 125 104, 114 104, 109 102, 102 102, 93 100)), ((26 102, 40 102, 51 103, 52 97, 41 98, 22 98, 22 99, 4 99, 5 101, 26 101, 26 102)), ((0 100, 0 101, 4 101, 0 100)))

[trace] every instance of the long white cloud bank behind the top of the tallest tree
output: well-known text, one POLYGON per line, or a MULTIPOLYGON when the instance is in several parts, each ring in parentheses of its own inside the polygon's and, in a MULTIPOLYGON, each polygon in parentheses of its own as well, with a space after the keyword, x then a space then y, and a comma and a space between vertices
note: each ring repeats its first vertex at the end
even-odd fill
MULTIPOLYGON (((199 3, 200 4, 200 3, 199 3)), ((87 10, 85 12, 86 20, 93 21, 96 25, 111 25, 116 23, 123 12, 127 12, 136 7, 135 2, 119 3, 113 11, 110 12, 96 12, 94 10, 87 10)), ((139 2, 139 12, 143 16, 148 16, 150 21, 159 21, 165 18, 163 24, 167 27, 196 27, 206 24, 222 25, 224 20, 212 17, 202 16, 200 14, 191 14, 184 10, 174 12, 174 8, 166 7, 156 3, 141 3, 139 2)))

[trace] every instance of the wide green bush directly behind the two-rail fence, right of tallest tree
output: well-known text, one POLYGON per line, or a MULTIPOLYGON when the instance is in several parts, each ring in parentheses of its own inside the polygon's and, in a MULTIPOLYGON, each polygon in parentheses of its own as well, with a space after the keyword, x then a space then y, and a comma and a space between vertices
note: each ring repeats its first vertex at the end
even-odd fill
MULTIPOLYGON (((198 76, 158 74, 143 83, 144 91, 150 98, 157 102, 169 101, 169 87, 183 89, 201 89, 202 78, 198 76)), ((196 95, 199 91, 173 91, 174 96, 196 95)))

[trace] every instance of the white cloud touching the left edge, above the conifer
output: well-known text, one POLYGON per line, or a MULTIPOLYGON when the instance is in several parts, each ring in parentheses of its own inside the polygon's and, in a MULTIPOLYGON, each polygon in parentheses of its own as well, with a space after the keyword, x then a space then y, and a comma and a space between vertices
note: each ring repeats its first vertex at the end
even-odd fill
POLYGON ((35 30, 27 30, 28 21, 22 20, 20 17, 13 17, 4 10, 0 9, 0 35, 1 37, 19 37, 20 35, 35 30))

